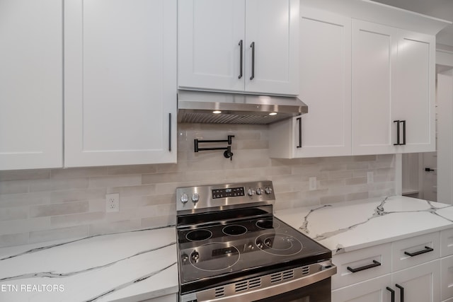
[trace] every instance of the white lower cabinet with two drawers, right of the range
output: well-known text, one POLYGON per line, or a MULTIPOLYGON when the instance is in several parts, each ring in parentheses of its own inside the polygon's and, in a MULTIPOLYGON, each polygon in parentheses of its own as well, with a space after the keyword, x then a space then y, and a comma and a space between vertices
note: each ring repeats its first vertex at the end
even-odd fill
POLYGON ((440 250, 440 233, 436 232, 334 255, 338 272, 332 278, 332 301, 440 302, 452 298, 448 284, 453 283, 453 271, 448 268, 453 267, 453 256, 440 259, 440 250))

